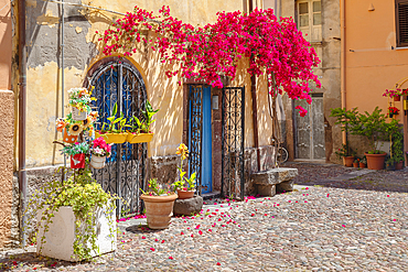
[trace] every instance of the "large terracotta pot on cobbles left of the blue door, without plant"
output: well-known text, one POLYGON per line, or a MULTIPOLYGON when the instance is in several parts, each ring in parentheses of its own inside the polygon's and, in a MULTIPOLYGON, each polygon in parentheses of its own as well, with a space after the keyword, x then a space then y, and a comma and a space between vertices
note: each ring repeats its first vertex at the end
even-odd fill
POLYGON ((176 194, 170 196, 149 196, 141 195, 144 200, 146 216, 148 225, 151 229, 167 229, 169 228, 170 219, 173 215, 174 200, 178 198, 176 194))

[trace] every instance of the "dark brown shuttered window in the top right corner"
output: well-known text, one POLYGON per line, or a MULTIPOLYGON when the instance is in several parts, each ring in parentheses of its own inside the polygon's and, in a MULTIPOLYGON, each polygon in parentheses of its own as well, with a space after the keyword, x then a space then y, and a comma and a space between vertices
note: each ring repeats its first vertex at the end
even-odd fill
POLYGON ((395 1, 397 47, 408 46, 408 0, 395 1))

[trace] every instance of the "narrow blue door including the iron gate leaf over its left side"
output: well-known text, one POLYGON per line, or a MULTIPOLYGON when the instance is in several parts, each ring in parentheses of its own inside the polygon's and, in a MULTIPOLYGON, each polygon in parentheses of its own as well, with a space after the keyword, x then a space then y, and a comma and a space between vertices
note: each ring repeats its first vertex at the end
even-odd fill
POLYGON ((211 87, 190 86, 189 172, 196 172, 201 194, 213 191, 211 87))

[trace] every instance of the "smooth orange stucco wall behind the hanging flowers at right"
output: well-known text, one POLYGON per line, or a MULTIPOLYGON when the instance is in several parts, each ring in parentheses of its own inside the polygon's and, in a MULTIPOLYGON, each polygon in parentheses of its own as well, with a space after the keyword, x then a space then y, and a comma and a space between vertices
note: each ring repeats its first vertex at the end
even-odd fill
MULTIPOLYGON (((345 4, 346 107, 372 112, 378 106, 387 112, 390 100, 383 93, 408 77, 408 48, 396 50, 394 1, 347 0, 345 4), (374 11, 368 11, 371 3, 374 11)), ((395 106, 402 110, 402 102, 395 106)))

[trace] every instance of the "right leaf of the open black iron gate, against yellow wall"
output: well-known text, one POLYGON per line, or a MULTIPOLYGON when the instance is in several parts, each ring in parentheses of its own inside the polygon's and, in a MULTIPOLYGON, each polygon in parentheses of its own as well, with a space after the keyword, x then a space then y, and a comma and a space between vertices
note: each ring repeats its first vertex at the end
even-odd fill
POLYGON ((244 199, 245 88, 223 88, 222 185, 223 196, 244 199))

